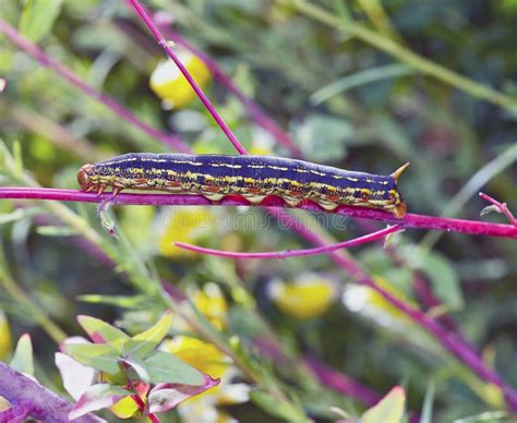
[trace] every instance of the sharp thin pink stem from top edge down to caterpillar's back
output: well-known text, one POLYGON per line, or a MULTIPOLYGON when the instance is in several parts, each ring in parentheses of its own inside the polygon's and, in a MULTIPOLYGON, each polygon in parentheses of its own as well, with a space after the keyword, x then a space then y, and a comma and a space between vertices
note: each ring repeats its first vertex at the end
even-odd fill
POLYGON ((197 83, 194 81, 192 75, 189 73, 189 71, 185 69, 183 63, 181 63, 180 59, 176 55, 176 52, 170 48, 169 44, 165 39, 165 37, 161 35, 159 29, 156 27, 154 22, 151 20, 149 15, 147 12, 144 10, 144 8, 139 3, 137 0, 129 0, 133 9, 139 13, 139 15, 142 17, 142 20, 145 22, 149 31, 153 33, 155 38, 158 40, 158 44, 164 48, 166 51, 167 56, 176 63, 178 69, 181 71, 183 76, 189 81, 189 84, 191 85, 192 89, 194 89, 195 94, 197 97, 200 97, 200 100, 203 102, 203 105, 206 107, 206 110, 212 114, 214 120, 217 122, 219 128, 223 130, 223 132, 226 134, 228 140, 230 140, 231 144, 236 147, 236 149, 240 154, 248 154, 244 147, 241 145, 239 140, 237 140, 237 136, 231 132, 230 128, 226 124, 226 122, 223 120, 223 118, 219 116, 217 110, 212 106, 211 100, 208 97, 203 93, 203 90, 200 88, 197 83))

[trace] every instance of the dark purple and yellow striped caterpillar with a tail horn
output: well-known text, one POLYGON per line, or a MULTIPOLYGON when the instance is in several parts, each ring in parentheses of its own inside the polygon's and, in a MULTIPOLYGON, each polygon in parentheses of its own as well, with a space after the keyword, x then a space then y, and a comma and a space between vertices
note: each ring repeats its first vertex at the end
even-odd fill
POLYGON ((83 191, 157 190, 196 193, 218 202, 238 194, 252 204, 267 195, 296 207, 311 200, 326 210, 339 205, 361 206, 405 216, 406 202, 397 180, 409 164, 389 176, 348 171, 270 156, 225 156, 130 153, 95 164, 77 172, 83 191))

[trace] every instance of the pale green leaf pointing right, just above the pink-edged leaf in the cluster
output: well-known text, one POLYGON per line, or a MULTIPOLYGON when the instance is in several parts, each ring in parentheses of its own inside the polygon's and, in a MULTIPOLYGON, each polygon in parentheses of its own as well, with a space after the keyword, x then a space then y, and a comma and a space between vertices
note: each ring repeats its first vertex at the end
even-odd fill
POLYGON ((184 385, 203 385, 204 376, 196 368, 184 363, 166 351, 156 351, 144 360, 149 371, 151 383, 173 383, 184 385))

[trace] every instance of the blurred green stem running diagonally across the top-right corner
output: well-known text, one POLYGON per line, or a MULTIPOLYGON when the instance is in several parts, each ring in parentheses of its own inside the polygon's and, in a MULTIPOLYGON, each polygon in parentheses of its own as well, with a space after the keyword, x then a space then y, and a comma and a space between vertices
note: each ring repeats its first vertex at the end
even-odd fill
POLYGON ((493 105, 500 106, 501 108, 516 113, 517 112, 517 98, 507 96, 506 94, 500 93, 496 89, 488 87, 476 81, 472 81, 459 73, 453 72, 447 68, 434 63, 433 61, 425 59, 406 47, 400 46, 393 39, 386 38, 376 32, 365 27, 356 22, 344 22, 334 14, 318 8, 317 5, 311 4, 304 0, 277 0, 291 4, 299 12, 321 22, 335 29, 338 29, 345 34, 354 36, 362 41, 382 50, 394 58, 413 67, 423 74, 430 75, 438 81, 442 81, 450 86, 464 90, 473 97, 481 98, 493 105))

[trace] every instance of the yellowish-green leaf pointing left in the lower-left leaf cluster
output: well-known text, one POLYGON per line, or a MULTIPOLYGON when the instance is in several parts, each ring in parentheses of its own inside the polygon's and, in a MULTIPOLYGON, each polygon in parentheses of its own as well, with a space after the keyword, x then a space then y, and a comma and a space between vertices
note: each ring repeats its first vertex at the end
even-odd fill
POLYGON ((63 351, 81 364, 110 374, 119 373, 119 352, 108 343, 65 343, 63 351))

